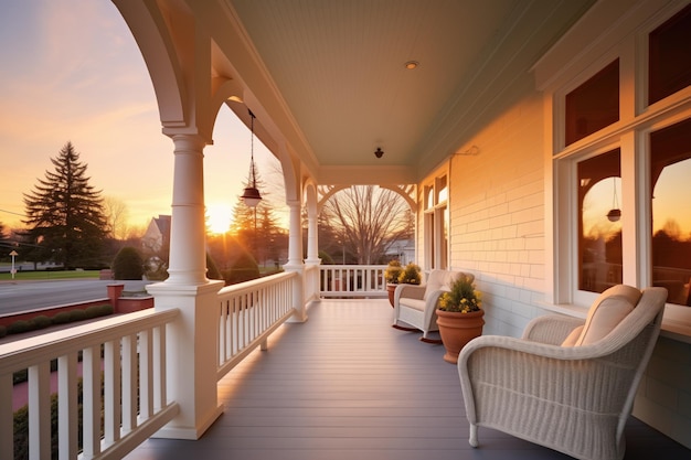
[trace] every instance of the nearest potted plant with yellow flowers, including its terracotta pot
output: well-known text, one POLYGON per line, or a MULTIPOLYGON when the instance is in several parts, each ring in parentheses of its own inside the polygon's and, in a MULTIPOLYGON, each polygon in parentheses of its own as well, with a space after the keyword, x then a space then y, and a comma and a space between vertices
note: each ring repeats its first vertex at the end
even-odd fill
POLYGON ((450 291, 439 297, 436 313, 439 335, 446 349, 444 360, 455 364, 466 343, 482 334, 482 295, 470 279, 461 276, 451 285, 450 291))

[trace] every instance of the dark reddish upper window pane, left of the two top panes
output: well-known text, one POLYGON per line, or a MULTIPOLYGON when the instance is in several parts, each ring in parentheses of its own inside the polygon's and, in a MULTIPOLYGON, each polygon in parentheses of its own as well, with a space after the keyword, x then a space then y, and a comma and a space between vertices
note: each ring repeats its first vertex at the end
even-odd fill
POLYGON ((566 95, 566 146, 619 119, 619 60, 566 95))

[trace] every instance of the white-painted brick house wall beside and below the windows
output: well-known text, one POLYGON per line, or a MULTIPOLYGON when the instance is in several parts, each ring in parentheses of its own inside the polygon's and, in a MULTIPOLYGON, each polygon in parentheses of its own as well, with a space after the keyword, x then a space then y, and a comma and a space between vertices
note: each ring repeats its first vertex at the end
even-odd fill
MULTIPOLYGON (((528 90, 464 142, 465 148, 477 146, 478 156, 451 159, 450 267, 476 275, 483 293, 485 334, 520 336, 532 318, 545 313, 538 307, 548 269, 543 127, 542 98, 528 90)), ((690 344, 660 339, 634 415, 691 448, 690 344)))

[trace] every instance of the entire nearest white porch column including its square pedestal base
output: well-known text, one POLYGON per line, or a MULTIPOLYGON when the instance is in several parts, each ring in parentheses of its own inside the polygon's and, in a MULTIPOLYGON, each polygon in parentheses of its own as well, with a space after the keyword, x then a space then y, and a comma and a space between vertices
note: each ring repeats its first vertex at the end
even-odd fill
POLYGON ((147 286, 156 310, 179 309, 166 333, 166 394, 180 405, 159 438, 199 439, 222 414, 217 402, 217 292, 223 281, 206 279, 204 232, 204 141, 174 135, 174 172, 169 278, 147 286))

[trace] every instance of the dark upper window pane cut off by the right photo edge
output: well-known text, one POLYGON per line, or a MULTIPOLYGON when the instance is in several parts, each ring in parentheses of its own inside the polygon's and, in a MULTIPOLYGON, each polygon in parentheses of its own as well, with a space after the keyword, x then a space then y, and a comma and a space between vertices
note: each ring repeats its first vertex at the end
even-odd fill
POLYGON ((691 85, 691 6, 650 33, 648 104, 691 85))

